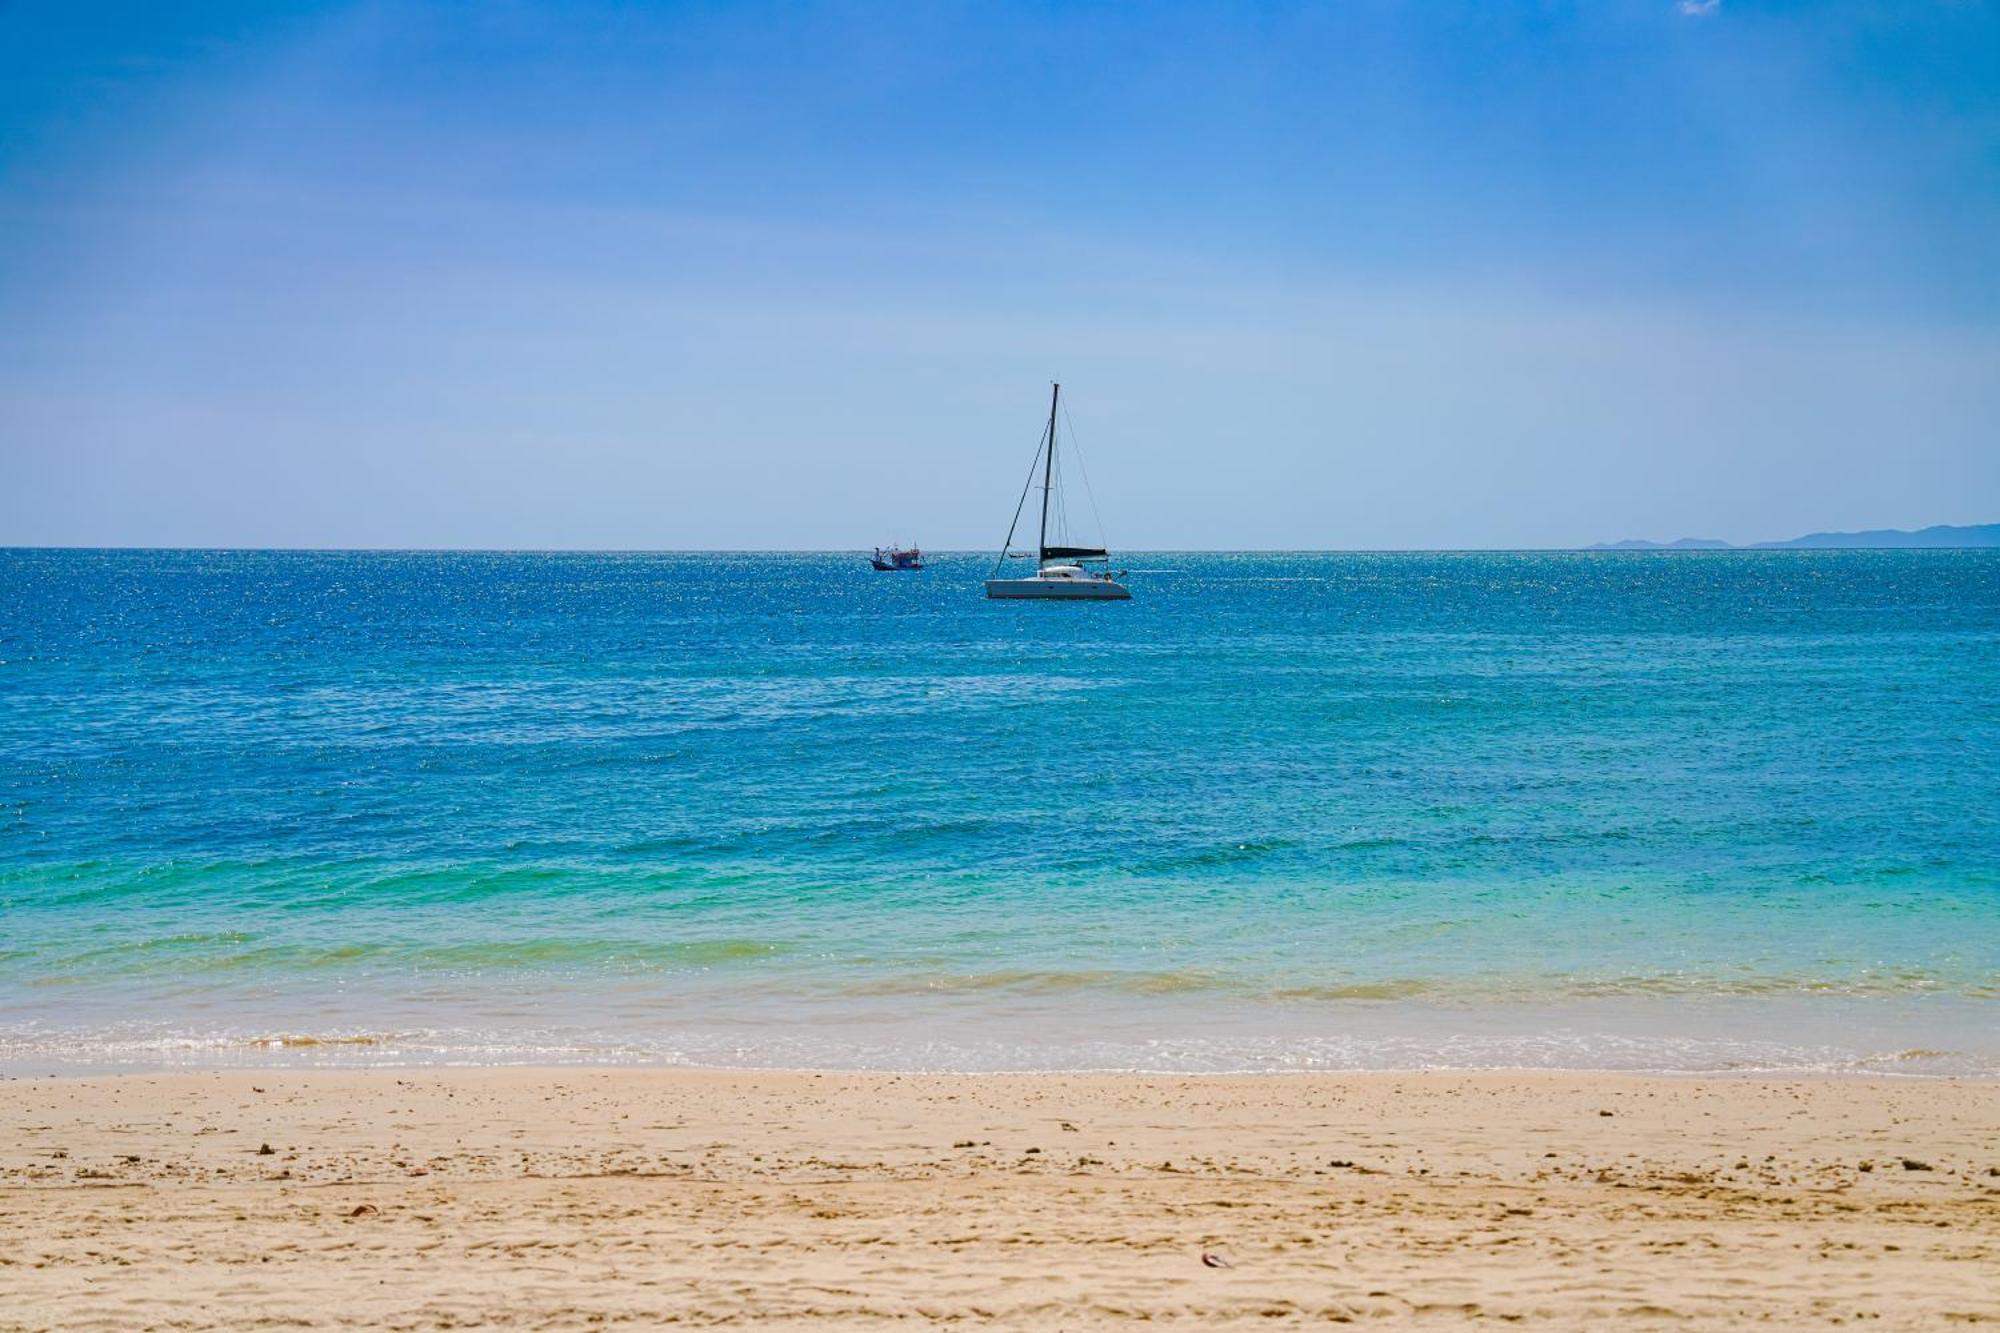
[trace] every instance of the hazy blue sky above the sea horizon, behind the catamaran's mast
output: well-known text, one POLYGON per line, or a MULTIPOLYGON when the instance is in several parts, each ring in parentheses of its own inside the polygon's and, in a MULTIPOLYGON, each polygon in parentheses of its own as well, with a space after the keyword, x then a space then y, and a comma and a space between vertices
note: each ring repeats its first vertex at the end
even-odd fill
POLYGON ((0 0, 0 544, 2000 520, 2000 0, 0 0))

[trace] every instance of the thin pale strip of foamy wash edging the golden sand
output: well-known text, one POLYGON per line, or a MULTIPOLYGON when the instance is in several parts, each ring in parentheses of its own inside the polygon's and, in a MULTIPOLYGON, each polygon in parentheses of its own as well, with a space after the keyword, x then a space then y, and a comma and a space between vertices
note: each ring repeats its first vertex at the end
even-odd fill
MULTIPOLYGON (((1054 1009, 1054 1007, 1050 1007, 1054 1009)), ((1156 1007, 1148 1007, 1156 1009, 1156 1007)), ((1014 1013, 988 1021, 824 1013, 782 1023, 644 1027, 458 1027, 306 1033, 174 1031, 124 1023, 96 1031, 0 1031, 0 1069, 84 1073, 214 1067, 662 1065, 932 1073, 1314 1073, 1404 1069, 1576 1069, 1626 1073, 1826 1073, 2000 1077, 2000 1041, 1984 1007, 1928 1007, 1858 1019, 1826 1005, 1732 1003, 1690 1023, 1684 1005, 1576 1005, 1512 1015, 1390 1005, 1340 1025, 1262 1025, 1254 1015, 1184 1013, 1160 1031, 1130 1013, 1100 1021, 1014 1013), (1752 1011, 1766 1009, 1762 1015, 1752 1011), (1746 1037, 1746 1017, 1790 1037, 1746 1037), (1908 1045, 1926 1027, 1950 1045, 1908 1045)), ((1152 1013, 1160 1019, 1160 1013, 1152 1013)))

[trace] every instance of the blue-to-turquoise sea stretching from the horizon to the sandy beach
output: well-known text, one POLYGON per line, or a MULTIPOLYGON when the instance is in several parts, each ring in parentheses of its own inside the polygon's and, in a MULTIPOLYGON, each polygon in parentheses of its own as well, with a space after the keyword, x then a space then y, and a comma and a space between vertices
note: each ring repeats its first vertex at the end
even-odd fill
POLYGON ((0 552, 0 1067, 2000 1071, 2000 552, 0 552))

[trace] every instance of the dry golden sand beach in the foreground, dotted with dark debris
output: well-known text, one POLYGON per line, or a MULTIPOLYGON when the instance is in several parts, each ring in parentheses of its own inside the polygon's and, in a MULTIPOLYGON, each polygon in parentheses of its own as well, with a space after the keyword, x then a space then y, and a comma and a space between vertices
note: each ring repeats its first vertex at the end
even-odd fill
POLYGON ((0 1327, 1940 1327, 1996 1171, 1994 1083, 14 1079, 0 1327))

